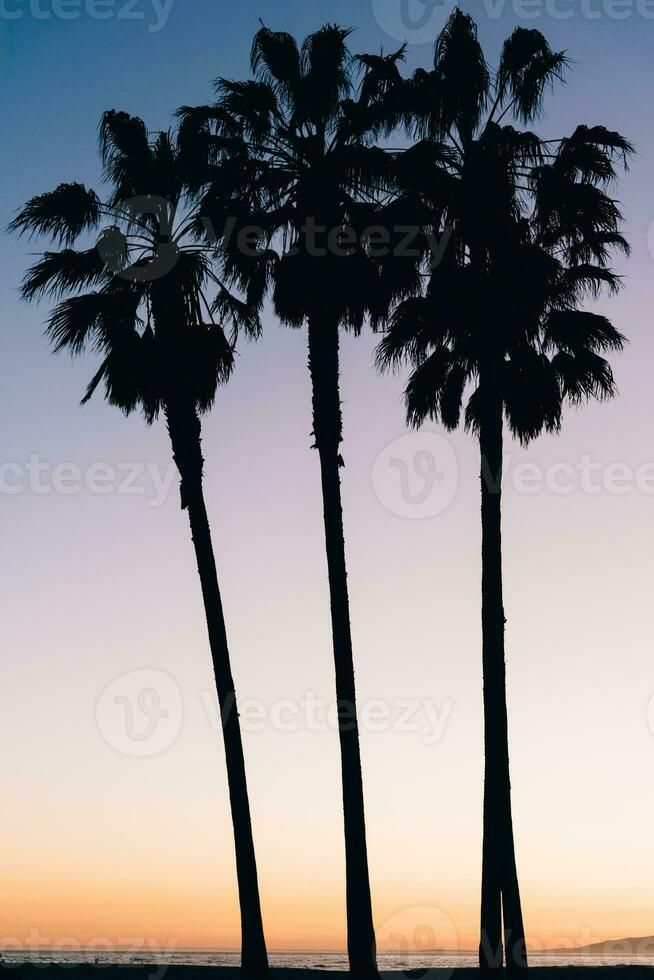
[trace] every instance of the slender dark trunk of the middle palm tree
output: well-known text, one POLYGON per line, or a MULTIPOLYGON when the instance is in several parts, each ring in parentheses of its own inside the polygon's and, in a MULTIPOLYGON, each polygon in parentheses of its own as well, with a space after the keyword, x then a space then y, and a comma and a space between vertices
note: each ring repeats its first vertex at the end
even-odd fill
POLYGON ((359 727, 356 711, 352 634, 345 564, 339 452, 342 418, 339 394, 338 321, 309 319, 309 371, 313 397, 313 431, 320 457, 325 545, 331 602, 338 734, 341 749, 347 949, 357 978, 378 976, 372 918, 368 849, 363 802, 359 727))

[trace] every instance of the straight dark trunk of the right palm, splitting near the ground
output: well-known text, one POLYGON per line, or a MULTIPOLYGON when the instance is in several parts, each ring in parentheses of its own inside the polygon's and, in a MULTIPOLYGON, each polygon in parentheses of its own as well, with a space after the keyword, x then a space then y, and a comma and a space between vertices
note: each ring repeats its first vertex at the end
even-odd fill
POLYGON ((502 919, 508 973, 527 967, 515 861, 502 594, 502 403, 487 396, 480 427, 482 643, 484 674, 484 817, 479 965, 502 967, 502 919))

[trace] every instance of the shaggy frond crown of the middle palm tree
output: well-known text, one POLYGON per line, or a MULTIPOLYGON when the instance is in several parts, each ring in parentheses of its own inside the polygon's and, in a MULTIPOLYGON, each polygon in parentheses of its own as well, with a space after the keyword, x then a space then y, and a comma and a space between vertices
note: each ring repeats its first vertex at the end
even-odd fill
POLYGON ((202 213, 215 228, 231 224, 221 241, 226 270, 246 289, 267 278, 290 326, 319 309, 359 331, 366 314, 376 322, 416 285, 415 261, 393 254, 402 212, 392 156, 373 145, 377 106, 399 78, 402 52, 355 59, 349 33, 327 25, 298 47, 290 34, 262 27, 255 79, 221 79, 215 105, 180 110, 182 129, 204 135, 213 159, 202 213), (388 231, 385 250, 371 251, 372 226, 388 231), (256 255, 241 247, 247 229, 259 232, 256 255))

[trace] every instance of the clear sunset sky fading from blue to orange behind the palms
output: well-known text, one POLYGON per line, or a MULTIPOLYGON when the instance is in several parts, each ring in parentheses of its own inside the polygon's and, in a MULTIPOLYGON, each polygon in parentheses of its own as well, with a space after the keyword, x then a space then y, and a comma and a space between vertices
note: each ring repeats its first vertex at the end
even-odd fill
MULTIPOLYGON (((0 0, 0 220, 100 184, 108 108, 167 128, 253 33, 355 28, 427 67, 449 0, 0 0)), ((654 135, 647 0, 484 0, 488 60, 516 25, 568 50, 539 132, 635 144, 617 192, 631 259, 602 300, 619 397, 507 444, 504 571, 516 847, 533 948, 654 932, 654 135)), ((53 357, 0 236, 0 946, 235 948, 221 736, 187 519, 161 423, 79 400, 93 357, 53 357)), ((344 860, 306 337, 262 339, 204 425, 206 495, 241 701, 271 949, 344 947, 344 860), (331 720, 330 720, 331 719, 331 720)), ((381 948, 477 942, 482 711, 478 460, 408 434, 376 338, 342 348, 343 495, 381 948), (425 929, 427 930, 425 932, 425 929), (429 932, 432 930, 432 932, 429 932), (400 939, 398 939, 400 937, 400 939)))

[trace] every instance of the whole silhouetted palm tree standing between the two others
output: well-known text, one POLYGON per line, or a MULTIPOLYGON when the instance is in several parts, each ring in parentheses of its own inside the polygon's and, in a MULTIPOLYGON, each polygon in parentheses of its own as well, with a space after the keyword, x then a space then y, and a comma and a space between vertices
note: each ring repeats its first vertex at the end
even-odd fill
POLYGON ((202 214, 221 235, 229 227, 220 251, 231 279, 247 288, 255 268, 269 281, 281 321, 308 327, 339 709, 348 954, 357 976, 373 977, 341 505, 339 331, 358 333, 366 315, 377 322, 393 300, 415 288, 416 272, 414 259, 393 256, 392 228, 403 223, 396 219, 407 205, 392 194, 391 156, 372 145, 376 105, 399 77, 402 51, 357 62, 348 51, 348 34, 327 25, 298 47, 290 34, 262 27, 252 46, 255 79, 220 80, 215 105, 180 114, 182 128, 202 135, 209 148, 215 180, 203 189, 202 214), (359 68, 363 77, 355 94, 359 68), (386 250, 378 238, 371 247, 366 229, 373 225, 388 231, 386 250), (254 254, 242 247, 241 234, 248 229, 258 243, 254 254))

